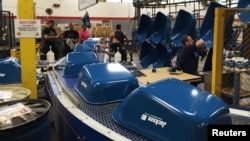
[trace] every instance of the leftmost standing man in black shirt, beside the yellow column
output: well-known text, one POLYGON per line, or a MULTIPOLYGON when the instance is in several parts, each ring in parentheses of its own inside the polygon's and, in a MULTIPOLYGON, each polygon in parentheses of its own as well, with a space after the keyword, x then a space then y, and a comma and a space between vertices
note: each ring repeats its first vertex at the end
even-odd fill
POLYGON ((62 34, 57 35, 56 30, 54 29, 54 21, 49 20, 47 22, 47 27, 42 31, 42 40, 43 40, 43 53, 46 56, 47 52, 51 50, 54 52, 55 60, 58 60, 59 52, 58 48, 56 47, 55 39, 58 39, 62 36, 62 34))

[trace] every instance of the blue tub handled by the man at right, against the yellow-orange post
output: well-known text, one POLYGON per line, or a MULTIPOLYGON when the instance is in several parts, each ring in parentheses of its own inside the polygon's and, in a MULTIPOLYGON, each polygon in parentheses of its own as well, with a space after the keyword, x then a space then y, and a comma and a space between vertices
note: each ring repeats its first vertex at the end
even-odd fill
POLYGON ((205 47, 207 48, 213 47, 214 17, 215 17, 215 8, 217 7, 226 8, 225 6, 217 2, 211 3, 207 9, 204 21, 198 33, 198 39, 202 38, 205 41, 205 47))

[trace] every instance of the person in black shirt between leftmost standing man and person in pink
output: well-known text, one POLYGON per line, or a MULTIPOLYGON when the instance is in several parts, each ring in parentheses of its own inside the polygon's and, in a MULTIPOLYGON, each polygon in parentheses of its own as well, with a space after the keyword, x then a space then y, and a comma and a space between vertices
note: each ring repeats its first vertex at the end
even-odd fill
POLYGON ((68 24, 68 30, 64 31, 63 34, 64 39, 64 56, 71 52, 75 45, 79 42, 79 33, 74 30, 74 26, 72 23, 68 24))

